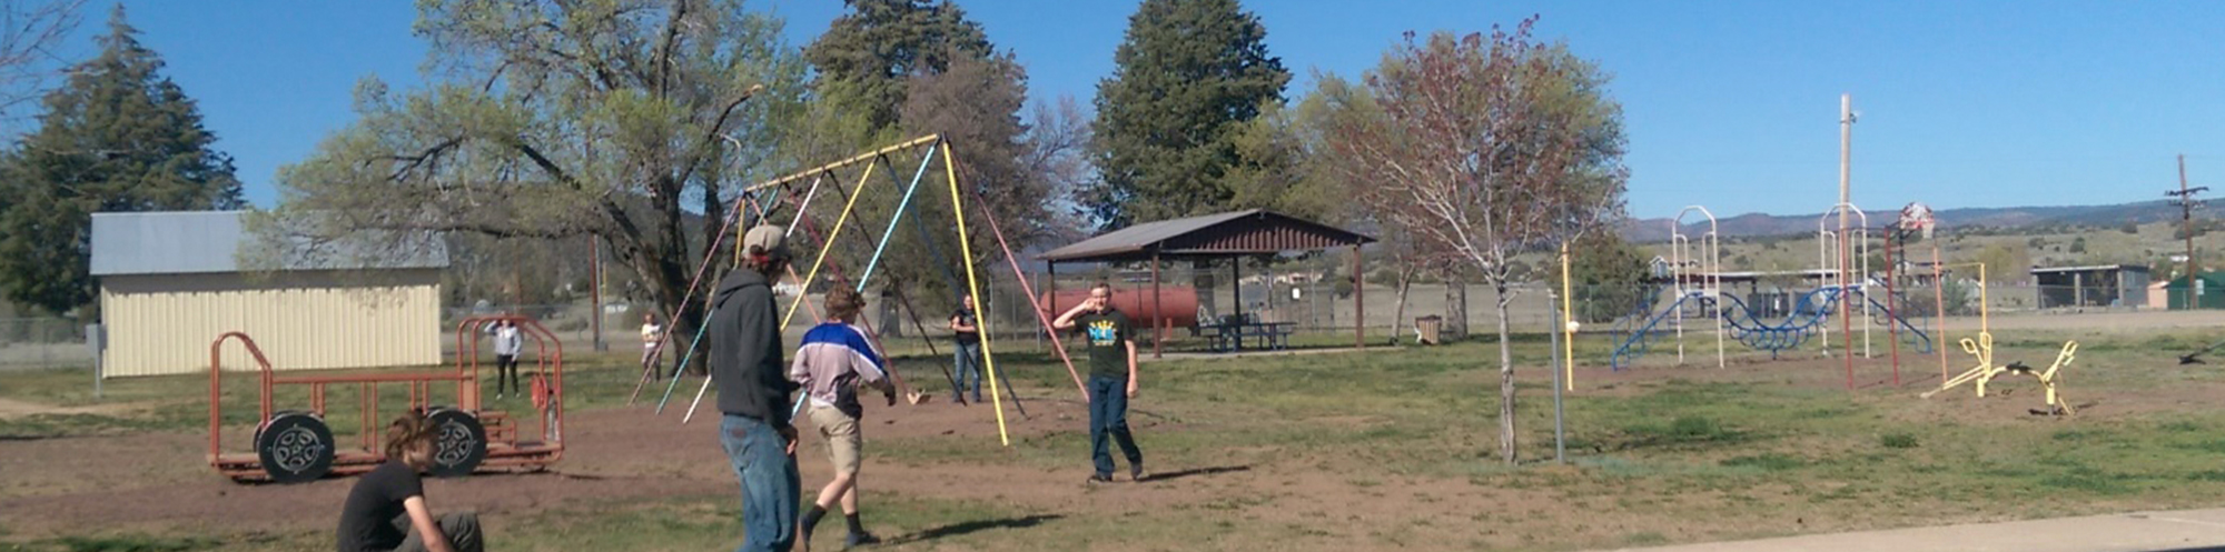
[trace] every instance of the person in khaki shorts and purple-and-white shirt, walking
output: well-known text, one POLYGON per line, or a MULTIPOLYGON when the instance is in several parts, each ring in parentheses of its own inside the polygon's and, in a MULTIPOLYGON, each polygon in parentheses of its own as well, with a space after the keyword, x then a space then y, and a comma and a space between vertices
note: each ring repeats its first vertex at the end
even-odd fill
POLYGON ((866 416, 866 405, 857 403, 857 387, 870 385, 881 390, 888 405, 897 405, 897 387, 888 383, 888 365, 881 361, 881 352, 872 347, 872 338, 866 336, 866 329, 852 325, 857 312, 863 307, 866 298, 850 287, 828 292, 825 323, 803 334, 803 345, 797 347, 797 363, 788 369, 788 376, 810 394, 810 418, 819 425, 819 436, 828 443, 828 461, 834 463, 834 481, 828 481, 819 490, 819 503, 803 512, 803 528, 797 532, 797 543, 803 543, 803 550, 810 550, 812 528, 819 525, 819 519, 828 514, 834 501, 841 501, 843 519, 850 521, 846 545, 881 541, 872 532, 866 532, 857 514, 857 467, 863 463, 861 447, 866 441, 859 434, 859 418, 866 416))

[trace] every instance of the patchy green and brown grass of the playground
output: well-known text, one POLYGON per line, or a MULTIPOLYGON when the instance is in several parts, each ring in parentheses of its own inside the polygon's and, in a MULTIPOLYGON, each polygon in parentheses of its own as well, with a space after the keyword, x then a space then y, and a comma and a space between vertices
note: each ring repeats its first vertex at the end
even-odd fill
MULTIPOLYGON (((2000 358, 2045 363, 2065 336, 2005 338, 2000 358)), ((2196 334, 2087 343, 2067 372, 2067 392, 2083 405, 2074 418, 2023 414, 2038 405, 2029 378, 1996 383, 2007 396, 1982 401, 1960 390, 1916 398, 1936 385, 1936 376, 1916 381, 1936 361, 1911 361, 1902 390, 1873 385, 1882 367, 1867 363, 1858 392, 1842 390, 1836 361, 1584 369, 1566 398, 1571 465, 1551 463, 1542 336, 1515 343, 1520 465, 1495 456, 1497 352, 1489 343, 1164 361, 1146 365, 1133 414, 1153 467, 1170 474, 1146 483, 1148 494, 1079 485, 1079 421, 1019 434, 1012 447, 903 434, 872 441, 879 472, 1066 470, 1072 485, 1030 487, 1032 479, 1015 476, 1015 490, 986 499, 897 485, 870 496, 870 523, 894 536, 890 550, 1586 550, 2218 505, 2225 412, 2207 403, 2225 396, 2225 372, 2172 363, 2198 345, 2196 334)), ((1600 343, 1580 349, 1580 361, 1602 358, 1600 343)), ((1951 361, 1967 365, 1960 354, 1951 361)), ((934 363, 910 358, 903 369, 939 381, 934 363)), ((1070 390, 1044 356, 1001 365, 1035 396, 1070 390)), ((632 372, 619 356, 596 358, 570 383, 627 390, 632 372)), ((0 398, 96 405, 82 387, 82 372, 0 374, 0 398)), ((107 403, 136 407, 7 416, 0 436, 200 432, 205 392, 205 378, 116 381, 107 403)), ((227 387, 234 405, 251 405, 247 392, 227 387)), ((623 403, 623 394, 578 396, 578 410, 623 403)), ((712 550, 732 545, 739 523, 721 487, 554 505, 492 519, 490 532, 498 550, 712 550)), ((327 543, 318 532, 9 534, 0 521, 0 550, 327 543)))

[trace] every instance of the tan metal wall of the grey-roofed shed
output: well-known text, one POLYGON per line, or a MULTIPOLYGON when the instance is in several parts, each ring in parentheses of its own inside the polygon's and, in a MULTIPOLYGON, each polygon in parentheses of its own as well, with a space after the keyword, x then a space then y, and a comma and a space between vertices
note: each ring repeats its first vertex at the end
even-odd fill
MULTIPOLYGON (((107 376, 202 372, 225 332, 254 338, 274 369, 441 363, 434 269, 107 276, 100 312, 107 376)), ((254 361, 225 345, 225 369, 254 361)))

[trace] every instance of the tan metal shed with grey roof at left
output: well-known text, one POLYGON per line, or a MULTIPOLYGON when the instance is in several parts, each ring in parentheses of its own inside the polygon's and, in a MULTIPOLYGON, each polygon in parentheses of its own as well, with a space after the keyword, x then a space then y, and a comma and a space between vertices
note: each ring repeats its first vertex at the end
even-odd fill
MULTIPOLYGON (((245 332, 276 369, 441 363, 438 240, 376 263, 274 260, 249 272, 243 214, 93 214, 102 376, 205 372, 225 332, 245 332)), ((238 345, 225 347, 225 369, 254 367, 238 345)))

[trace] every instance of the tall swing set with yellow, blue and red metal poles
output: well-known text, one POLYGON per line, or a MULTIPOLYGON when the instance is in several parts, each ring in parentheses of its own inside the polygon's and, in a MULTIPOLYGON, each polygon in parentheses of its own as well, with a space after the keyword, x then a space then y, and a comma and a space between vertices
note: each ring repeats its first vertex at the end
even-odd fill
MULTIPOLYGON (((997 249, 1010 263, 1010 269, 1017 276, 1021 292, 1028 296, 1028 303, 1032 305, 1037 323, 1044 329, 1048 329, 1050 318, 1044 305, 1037 300, 1032 285, 1028 285, 1028 278, 1021 272, 1019 260, 1012 256, 1012 247, 1006 243, 1003 229, 997 225, 995 214, 990 211, 981 191, 963 187, 957 174, 959 171, 950 154, 950 142, 943 140, 941 136, 930 134, 745 187, 741 196, 734 198, 734 205, 732 209, 728 209, 721 231, 712 238, 712 247, 708 249, 703 263, 696 267, 694 278, 688 283, 688 292, 683 294, 679 312, 672 312, 670 316, 665 316, 665 321, 679 321, 679 314, 683 314, 688 307, 694 307, 699 303, 696 300, 699 289, 705 292, 701 307, 705 312, 710 309, 705 276, 712 276, 710 274, 714 265, 712 260, 716 252, 725 247, 728 236, 732 236, 734 240, 734 252, 736 252, 734 258, 739 263, 741 234, 756 225, 779 225, 779 220, 785 220, 785 234, 792 238, 790 243, 799 243, 794 240, 797 229, 803 229, 812 243, 812 247, 808 247, 812 254, 799 254, 794 258, 801 263, 805 256, 810 256, 812 258, 810 267, 803 274, 797 274, 794 265, 788 267, 788 280, 794 283, 797 296, 788 298, 788 307, 781 314, 779 327, 783 334, 797 321, 797 312, 808 312, 814 321, 821 318, 819 307, 812 305, 810 300, 814 285, 828 283, 821 278, 821 272, 832 276, 830 285, 852 287, 859 294, 863 294, 872 285, 872 276, 881 269, 881 258, 888 254, 892 238, 897 238, 899 225, 906 218, 906 214, 914 214, 910 216, 910 220, 919 247, 899 247, 899 249, 926 249, 934 258, 934 265, 941 267, 941 276, 948 289, 961 289, 966 296, 981 298, 981 276, 977 274, 972 263, 975 258, 972 234, 968 234, 966 225, 968 223, 966 209, 970 198, 972 200, 970 207, 979 209, 979 216, 988 220, 990 236, 995 236, 997 249), (897 171, 903 169, 903 165, 897 165, 897 160, 908 156, 917 156, 917 169, 912 171, 910 180, 901 180, 897 171), (943 180, 950 185, 948 207, 957 231, 955 236, 959 249, 957 265, 966 267, 963 278, 959 278, 957 272, 952 269, 952 260, 943 256, 943 247, 939 245, 937 234, 930 231, 930 225, 921 220, 926 216, 921 214, 921 205, 932 200, 932 196, 939 196, 932 191, 926 196, 919 194, 921 183, 928 180, 928 174, 937 165, 937 160, 941 160, 943 180), (870 189, 874 185, 877 171, 886 176, 883 178, 888 183, 886 189, 870 189), (850 185, 850 189, 843 189, 843 183, 852 180, 846 178, 848 174, 854 174, 854 185, 850 185), (966 194, 968 189, 970 194, 966 194), (859 223, 859 218, 863 216, 859 214, 857 207, 859 200, 866 196, 890 194, 890 191, 901 196, 897 198, 897 205, 888 216, 888 225, 881 229, 879 238, 874 238, 872 231, 863 227, 863 223, 859 223), (819 198, 825 196, 832 196, 834 203, 841 203, 841 209, 839 214, 834 214, 832 225, 821 227, 819 225, 821 218, 812 214, 812 207, 819 198), (850 274, 843 272, 843 263, 834 258, 837 247, 848 247, 846 243, 841 243, 846 229, 852 229, 852 234, 863 236, 861 238, 863 243, 857 243, 859 252, 863 252, 866 245, 872 247, 872 256, 866 258, 863 272, 859 272, 857 278, 850 278, 850 274)), ((792 247, 792 249, 805 252, 805 247, 792 247)), ((712 280, 716 280, 716 276, 712 276, 712 280)), ((939 352, 934 349, 934 341, 928 336, 928 325, 921 323, 919 309, 912 307, 912 300, 910 296, 906 296, 903 285, 890 285, 890 292, 894 300, 906 312, 910 312, 910 323, 919 332, 921 341, 926 341, 928 352, 939 356, 939 352)), ((888 347, 881 345, 881 336, 879 332, 872 329, 872 323, 863 318, 859 323, 861 327, 866 327, 866 334, 868 338, 872 338, 872 345, 886 352, 888 347)), ((688 343, 688 349, 685 354, 681 354, 679 367, 674 372, 685 369, 688 363, 696 356, 696 349, 703 343, 703 327, 708 325, 696 327, 696 336, 694 341, 688 343)), ((981 367, 990 385, 990 398, 997 412, 997 436, 1003 445, 1010 445, 1012 441, 1010 434, 1006 432, 1003 401, 1010 398, 1012 407, 1021 416, 1028 416, 1028 410, 1019 403, 1019 394, 1012 392, 1006 378, 997 372, 997 354, 992 345, 990 321, 986 316, 979 318, 979 334, 981 334, 981 367)), ((1068 358, 1064 343, 1059 343, 1059 334, 1057 332, 1048 334, 1052 352, 1057 352, 1059 361, 1066 365, 1068 376, 1072 376, 1075 390, 1081 392, 1086 398, 1088 392, 1081 387, 1081 374, 1075 369, 1072 358, 1068 358)), ((665 338, 672 338, 672 332, 665 332, 665 338)), ((663 343, 659 343, 659 347, 663 343)), ((634 385, 634 396, 627 398, 630 405, 641 398, 641 387, 645 387, 656 376, 650 369, 654 367, 643 369, 641 383, 634 385)), ((914 392, 903 381, 903 376, 897 374, 897 369, 890 369, 888 374, 892 383, 908 396, 910 403, 917 405, 926 398, 926 394, 914 392)), ((948 378, 952 390, 957 390, 957 378, 950 374, 948 365, 943 365, 943 378, 948 378)), ((672 401, 672 392, 679 387, 679 381, 681 378, 672 378, 672 383, 668 383, 663 398, 659 398, 656 403, 659 414, 665 412, 665 405, 672 401)), ((681 423, 694 418, 694 412, 703 403, 703 394, 708 390, 710 390, 710 378, 703 378, 703 387, 696 390, 696 396, 688 405, 688 414, 681 416, 681 423)), ((959 401, 963 403, 963 398, 959 401)), ((797 407, 801 405, 803 401, 799 396, 797 407)))

